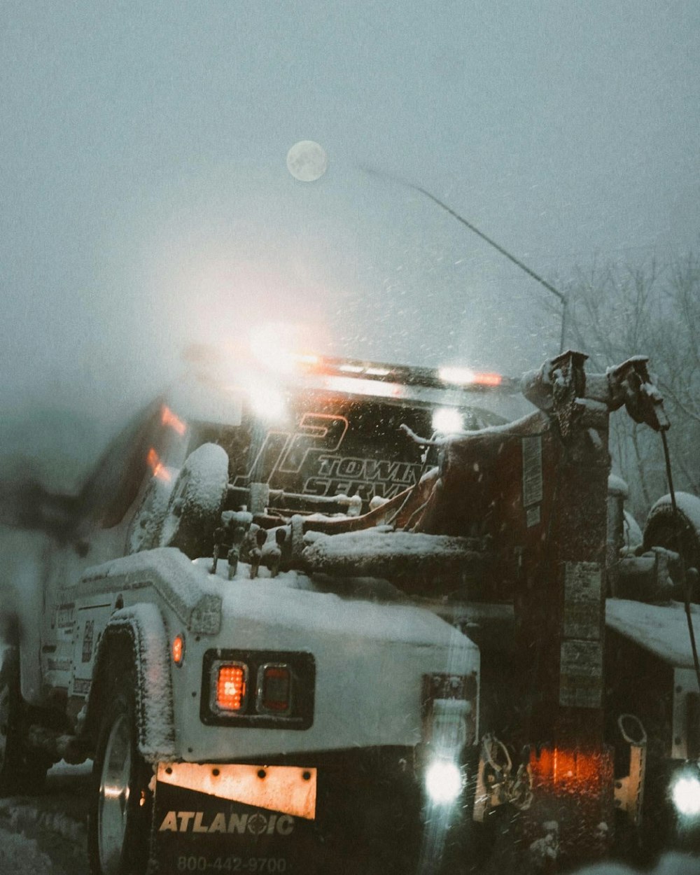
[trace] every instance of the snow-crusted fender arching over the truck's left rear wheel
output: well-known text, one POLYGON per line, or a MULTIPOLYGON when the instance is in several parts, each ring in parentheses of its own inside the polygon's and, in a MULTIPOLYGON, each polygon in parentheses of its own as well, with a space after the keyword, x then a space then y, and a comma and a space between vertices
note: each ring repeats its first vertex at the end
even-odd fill
POLYGON ((144 760, 155 763, 175 759, 172 714, 172 681, 168 639, 158 607, 138 604, 120 608, 109 618, 100 639, 88 698, 86 728, 99 721, 104 686, 113 658, 131 658, 137 671, 138 749, 144 760))

